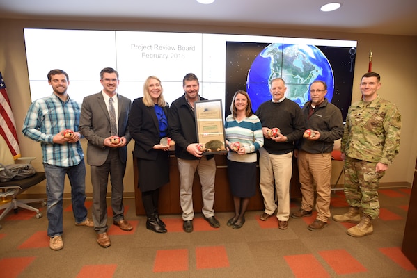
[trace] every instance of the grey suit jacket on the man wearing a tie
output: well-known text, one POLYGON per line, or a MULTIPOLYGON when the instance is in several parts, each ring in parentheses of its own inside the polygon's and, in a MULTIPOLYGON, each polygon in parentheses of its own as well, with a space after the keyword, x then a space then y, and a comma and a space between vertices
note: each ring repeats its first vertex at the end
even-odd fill
MULTIPOLYGON (((127 97, 118 95, 118 136, 131 140, 128 128, 129 112, 132 101, 127 97)), ((109 147, 104 146, 104 139, 111 136, 110 117, 107 104, 102 92, 84 97, 81 106, 79 131, 87 138, 87 163, 93 166, 103 165, 109 155, 109 147)), ((127 161, 127 144, 118 148, 120 161, 127 161)))

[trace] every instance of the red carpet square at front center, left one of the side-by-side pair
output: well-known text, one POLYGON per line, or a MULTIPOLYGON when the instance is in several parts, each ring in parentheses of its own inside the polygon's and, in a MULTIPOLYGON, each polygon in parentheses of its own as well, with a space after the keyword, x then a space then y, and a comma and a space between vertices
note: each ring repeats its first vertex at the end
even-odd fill
POLYGON ((187 271, 188 250, 158 250, 153 272, 187 271))

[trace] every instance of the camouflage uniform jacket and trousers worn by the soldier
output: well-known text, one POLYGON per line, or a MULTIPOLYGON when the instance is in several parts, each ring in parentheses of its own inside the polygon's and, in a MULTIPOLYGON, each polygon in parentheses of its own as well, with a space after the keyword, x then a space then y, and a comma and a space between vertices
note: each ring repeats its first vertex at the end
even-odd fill
POLYGON ((349 206, 378 218, 377 163, 393 163, 400 149, 401 115, 395 104, 377 96, 349 107, 341 151, 345 153, 345 195, 349 206))

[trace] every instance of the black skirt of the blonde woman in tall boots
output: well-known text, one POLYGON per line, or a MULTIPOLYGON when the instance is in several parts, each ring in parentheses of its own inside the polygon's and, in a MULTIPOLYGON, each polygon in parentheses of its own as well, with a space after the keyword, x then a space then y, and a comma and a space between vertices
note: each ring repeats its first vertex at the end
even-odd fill
POLYGON ((167 152, 159 151, 157 160, 137 158, 139 170, 139 189, 151 191, 169 182, 169 157, 167 152))

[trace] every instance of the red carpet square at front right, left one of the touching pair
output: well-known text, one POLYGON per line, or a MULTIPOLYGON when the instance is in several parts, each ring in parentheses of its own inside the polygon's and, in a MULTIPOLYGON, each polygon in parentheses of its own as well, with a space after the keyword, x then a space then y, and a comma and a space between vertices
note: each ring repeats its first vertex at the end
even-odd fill
POLYGON ((284 256, 297 278, 325 278, 330 277, 315 256, 312 254, 284 256))

